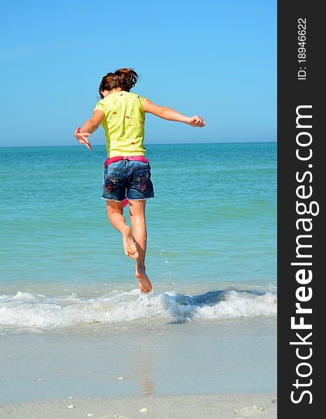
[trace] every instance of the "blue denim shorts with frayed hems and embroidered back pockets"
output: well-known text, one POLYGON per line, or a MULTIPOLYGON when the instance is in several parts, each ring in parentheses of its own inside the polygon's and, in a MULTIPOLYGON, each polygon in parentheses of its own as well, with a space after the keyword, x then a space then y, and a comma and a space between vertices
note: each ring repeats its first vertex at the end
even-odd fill
POLYGON ((102 198, 116 201, 154 198, 149 163, 120 160, 105 166, 102 198))

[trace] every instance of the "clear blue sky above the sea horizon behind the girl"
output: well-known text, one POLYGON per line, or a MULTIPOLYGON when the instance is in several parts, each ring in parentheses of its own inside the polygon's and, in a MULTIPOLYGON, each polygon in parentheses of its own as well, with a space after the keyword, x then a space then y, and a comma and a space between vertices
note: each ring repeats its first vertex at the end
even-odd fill
MULTIPOLYGON (((142 75, 146 143, 276 141, 276 0, 1 1, 1 146, 75 145, 103 75, 142 75)), ((104 144, 103 128, 90 138, 104 144)))

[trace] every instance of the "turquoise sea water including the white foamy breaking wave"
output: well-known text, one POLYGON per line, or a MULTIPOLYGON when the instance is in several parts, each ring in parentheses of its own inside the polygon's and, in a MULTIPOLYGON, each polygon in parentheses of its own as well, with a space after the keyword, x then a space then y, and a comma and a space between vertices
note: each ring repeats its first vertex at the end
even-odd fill
POLYGON ((274 316, 276 143, 147 145, 147 296, 101 200, 105 157, 0 149, 0 325, 274 316))

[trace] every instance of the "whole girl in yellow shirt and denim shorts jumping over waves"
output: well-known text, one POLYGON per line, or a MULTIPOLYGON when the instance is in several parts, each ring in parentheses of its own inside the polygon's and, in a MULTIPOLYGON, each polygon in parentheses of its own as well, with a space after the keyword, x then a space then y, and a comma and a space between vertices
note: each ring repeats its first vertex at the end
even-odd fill
POLYGON ((122 234, 126 256, 135 259, 140 292, 149 293, 152 287, 145 268, 145 205, 148 198, 154 198, 154 188, 143 145, 145 112, 191 126, 205 126, 205 122, 202 117, 186 117, 131 92, 138 77, 132 68, 120 68, 105 75, 98 88, 102 100, 96 104, 91 119, 81 129, 77 126, 74 135, 91 150, 88 137, 100 124, 104 128, 108 159, 104 164, 102 198, 106 200, 110 223, 122 234), (126 203, 133 230, 124 218, 126 203))

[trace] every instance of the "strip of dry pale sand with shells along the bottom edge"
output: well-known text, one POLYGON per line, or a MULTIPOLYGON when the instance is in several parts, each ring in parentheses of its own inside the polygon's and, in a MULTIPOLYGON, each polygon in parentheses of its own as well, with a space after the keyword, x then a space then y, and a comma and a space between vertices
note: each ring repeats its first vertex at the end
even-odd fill
POLYGON ((277 399, 273 393, 73 397, 0 404, 0 419, 276 419, 276 412, 277 399))

